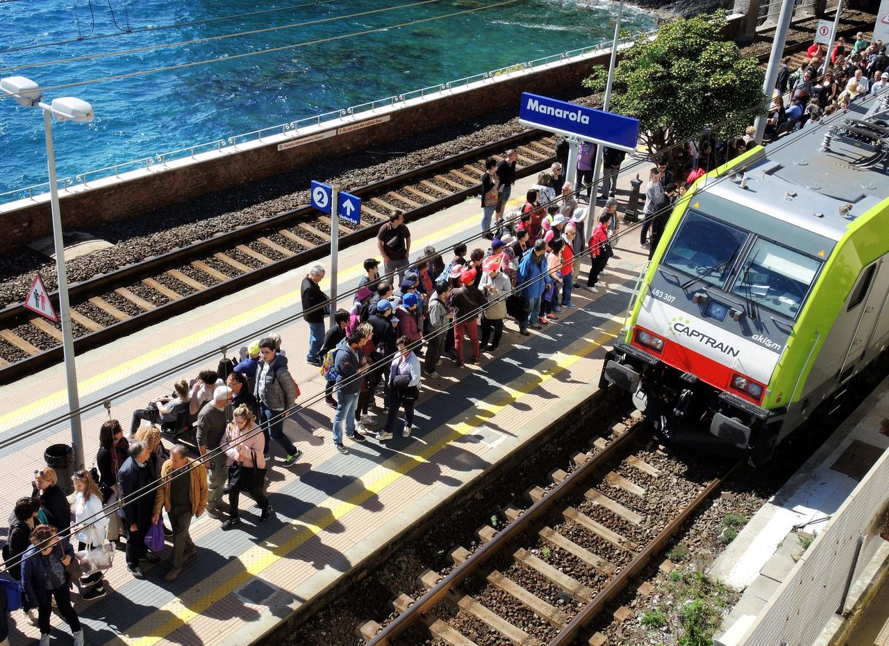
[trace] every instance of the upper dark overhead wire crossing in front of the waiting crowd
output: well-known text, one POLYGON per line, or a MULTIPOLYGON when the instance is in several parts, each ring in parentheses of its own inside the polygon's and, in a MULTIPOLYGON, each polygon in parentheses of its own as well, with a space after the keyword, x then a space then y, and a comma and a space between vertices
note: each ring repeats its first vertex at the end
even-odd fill
MULTIPOLYGON (((823 77, 823 76, 821 76, 821 77, 823 77)), ((821 77, 819 77, 819 78, 821 78, 821 77)), ((790 94, 791 92, 792 91, 789 90, 779 96, 784 96, 784 95, 790 94)), ((759 103, 751 106, 746 111, 746 114, 748 116, 757 115, 762 108, 767 108, 769 105, 771 105, 772 100, 773 99, 766 99, 762 102, 759 102, 759 103)), ((734 120, 733 118, 725 119, 724 121, 718 122, 717 124, 712 124, 711 128, 718 129, 718 128, 724 126, 725 124, 730 123, 733 120, 734 120)), ((696 135, 692 139, 700 138, 702 136, 709 134, 711 128, 705 128, 701 132, 696 133, 696 135)), ((651 158, 654 156, 662 156, 666 153, 669 153, 670 151, 672 151, 674 149, 683 148, 684 146, 685 146, 685 140, 677 142, 676 144, 673 144, 672 146, 669 146, 668 148, 659 150, 656 154, 649 154, 649 155, 643 157, 642 159, 634 160, 632 163, 629 164, 629 166, 625 167, 623 170, 624 171, 633 170, 640 165, 643 165, 645 163, 650 163, 651 158)), ((602 181, 602 179, 600 179, 600 181, 602 181)), ((578 195, 578 196, 581 195, 583 190, 586 189, 587 187, 592 187, 592 185, 591 184, 581 185, 580 187, 578 187, 577 189, 575 189, 573 191, 572 195, 578 195)), ((592 187, 592 189, 595 190, 596 187, 592 187)), ((546 204, 541 205, 541 208, 545 208, 545 207, 546 207, 546 204)), ((507 222, 507 223, 509 224, 509 222, 507 222)), ((477 237, 477 235, 470 235, 468 238, 466 238, 465 240, 462 240, 461 242, 469 243, 469 242, 475 240, 476 237, 477 237)), ((416 262, 419 263, 422 260, 423 259, 419 259, 416 262)), ((381 276, 381 278, 382 277, 385 277, 385 276, 381 276)), ((352 291, 344 292, 343 294, 340 295, 340 298, 355 294, 356 291, 357 291, 357 288, 352 291)), ((323 305, 316 307, 316 308, 327 307, 328 305, 330 305, 329 301, 323 305)), ((297 312, 294 315, 285 316, 283 319, 281 319, 279 324, 286 325, 288 323, 293 323, 294 321, 298 321, 304 314, 313 312, 313 311, 315 311, 316 308, 310 309, 307 312, 303 312, 302 310, 300 310, 299 312, 297 312)), ((225 352, 228 351, 228 347, 232 347, 232 346, 247 342, 248 340, 254 339, 257 335, 261 335, 262 333, 263 332, 260 329, 253 329, 251 331, 245 332, 244 334, 236 337, 235 339, 230 339, 228 341, 227 347, 216 347, 216 348, 212 349, 211 351, 205 352, 203 355, 198 355, 192 359, 184 360, 180 363, 172 363, 171 365, 165 367, 163 370, 154 373, 153 375, 148 377, 148 379, 165 379, 171 375, 180 373, 180 372, 185 371, 189 368, 193 368, 197 363, 209 360, 213 356, 219 355, 220 352, 224 355, 225 352)), ((99 407, 105 403, 109 403, 110 401, 112 401, 113 399, 116 399, 118 397, 121 397, 124 395, 129 395, 133 391, 139 389, 140 387, 141 387, 140 384, 133 384, 132 386, 120 388, 113 393, 103 396, 100 400, 95 400, 91 403, 81 403, 80 408, 77 409, 77 411, 67 411, 67 412, 61 413, 60 415, 57 415, 57 416, 53 417, 52 419, 45 420, 44 422, 40 423, 36 427, 28 428, 28 430, 26 430, 26 431, 21 431, 20 433, 17 433, 15 435, 5 435, 5 436, 0 435, 0 449, 4 449, 8 446, 11 446, 14 443, 18 443, 24 437, 36 435, 36 434, 41 433, 51 427, 54 427, 57 424, 63 423, 66 420, 70 419, 75 414, 81 414, 85 411, 89 411, 89 410, 92 410, 93 408, 99 407)))

